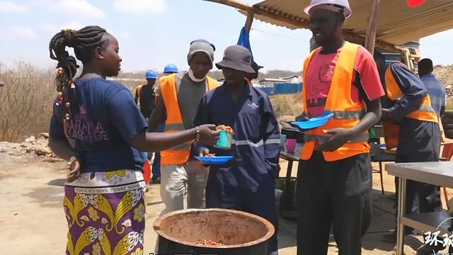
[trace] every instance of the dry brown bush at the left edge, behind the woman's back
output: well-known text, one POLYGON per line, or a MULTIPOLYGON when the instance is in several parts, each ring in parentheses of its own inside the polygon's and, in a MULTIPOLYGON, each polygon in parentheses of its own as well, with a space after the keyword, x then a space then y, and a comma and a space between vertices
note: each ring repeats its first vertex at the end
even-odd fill
POLYGON ((55 69, 18 62, 1 68, 0 141, 18 142, 23 137, 49 130, 52 103, 57 95, 55 69))

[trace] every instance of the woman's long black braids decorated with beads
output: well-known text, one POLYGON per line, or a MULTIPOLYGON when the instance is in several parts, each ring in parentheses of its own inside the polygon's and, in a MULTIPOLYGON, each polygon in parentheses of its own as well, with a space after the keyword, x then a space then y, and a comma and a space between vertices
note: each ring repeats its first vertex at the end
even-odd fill
MULTIPOLYGON (((79 113, 79 98, 74 77, 79 65, 76 58, 82 63, 91 61, 96 47, 104 47, 108 44, 108 38, 104 37, 107 31, 99 26, 86 26, 80 30, 63 29, 55 34, 49 42, 50 58, 57 60, 57 106, 66 106, 64 114, 64 132, 69 142, 69 123, 72 113, 79 113), (74 48, 76 57, 69 55, 66 47, 74 48)), ((72 145, 74 146, 74 145, 72 145)))

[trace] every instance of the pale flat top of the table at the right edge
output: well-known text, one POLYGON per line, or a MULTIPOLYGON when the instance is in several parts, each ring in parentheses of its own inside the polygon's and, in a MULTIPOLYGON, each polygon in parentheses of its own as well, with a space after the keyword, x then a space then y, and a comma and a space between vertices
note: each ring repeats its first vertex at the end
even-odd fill
POLYGON ((453 162, 416 162, 386 164, 392 176, 453 188, 453 162))

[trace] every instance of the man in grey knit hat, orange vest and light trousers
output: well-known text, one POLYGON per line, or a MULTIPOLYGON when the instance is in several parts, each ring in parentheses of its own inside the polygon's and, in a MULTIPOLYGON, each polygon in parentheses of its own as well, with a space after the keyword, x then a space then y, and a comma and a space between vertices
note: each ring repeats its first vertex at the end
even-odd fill
MULTIPOLYGON (((159 80, 159 102, 149 120, 149 130, 156 130, 164 121, 164 132, 193 128, 202 96, 219 86, 217 81, 207 77, 213 61, 214 45, 210 42, 197 40, 190 44, 188 72, 170 74, 159 80)), ((191 159, 192 145, 187 142, 161 152, 161 197, 166 206, 163 214, 184 209, 185 193, 188 193, 188 208, 205 208, 208 169, 191 159)))

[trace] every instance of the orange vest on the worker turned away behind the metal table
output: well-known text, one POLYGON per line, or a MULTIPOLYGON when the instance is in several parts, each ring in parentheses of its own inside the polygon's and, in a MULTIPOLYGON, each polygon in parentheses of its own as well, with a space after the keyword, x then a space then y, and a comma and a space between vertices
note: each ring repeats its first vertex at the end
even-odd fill
MULTIPOLYGON (((394 64, 401 64, 401 63, 394 63, 394 64)), ((398 84, 398 81, 396 81, 394 73, 392 71, 391 66, 394 64, 391 64, 386 69, 385 84, 386 84, 387 96, 393 101, 398 101, 404 97, 404 93, 403 93, 403 91, 401 91, 401 89, 400 89, 401 87, 398 84)), ((431 106, 430 95, 426 94, 420 103, 420 107, 417 110, 413 111, 412 113, 409 113, 408 115, 406 115, 406 118, 412 118, 415 120, 424 120, 424 121, 430 121, 430 122, 437 123, 438 122, 437 113, 434 111, 434 109, 431 106)))

